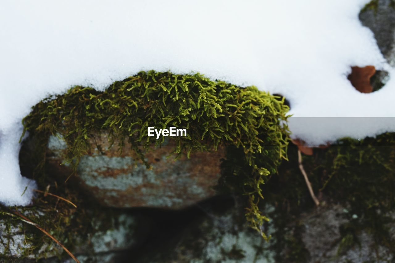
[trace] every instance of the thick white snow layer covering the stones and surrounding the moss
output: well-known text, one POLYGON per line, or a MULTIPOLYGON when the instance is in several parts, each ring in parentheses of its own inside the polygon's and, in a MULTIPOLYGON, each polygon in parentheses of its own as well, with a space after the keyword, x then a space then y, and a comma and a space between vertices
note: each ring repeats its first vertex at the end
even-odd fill
POLYGON ((325 121, 332 118, 296 121, 395 116, 395 78, 372 94, 347 80, 355 65, 395 74, 358 20, 368 1, 3 0, 0 201, 31 200, 35 185, 20 175, 18 141, 32 105, 73 85, 102 89, 140 70, 195 71, 280 93, 291 102, 292 136, 310 145, 395 131, 391 118, 352 125, 347 120, 356 118, 345 118, 344 129, 325 121))

